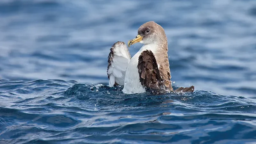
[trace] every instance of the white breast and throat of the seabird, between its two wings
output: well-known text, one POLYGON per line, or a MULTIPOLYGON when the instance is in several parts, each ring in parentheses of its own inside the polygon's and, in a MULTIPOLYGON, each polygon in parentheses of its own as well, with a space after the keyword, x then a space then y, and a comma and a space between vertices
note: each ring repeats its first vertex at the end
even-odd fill
POLYGON ((155 53, 156 45, 155 44, 143 45, 140 48, 140 50, 132 57, 130 63, 128 64, 128 67, 125 72, 125 78, 124 78, 124 89, 123 89, 124 94, 135 94, 135 93, 146 92, 140 83, 137 66, 138 66, 138 60, 141 52, 147 49, 155 53))

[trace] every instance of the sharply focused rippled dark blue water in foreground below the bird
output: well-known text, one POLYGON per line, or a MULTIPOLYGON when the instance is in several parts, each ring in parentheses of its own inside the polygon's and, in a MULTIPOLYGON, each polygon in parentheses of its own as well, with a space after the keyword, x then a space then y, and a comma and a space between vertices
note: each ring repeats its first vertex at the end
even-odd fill
MULTIPOLYGON (((10 87, 17 85, 17 82, 6 82, 10 87)), ((183 140, 198 143, 202 139, 227 140, 222 135, 231 140, 255 138, 254 99, 204 90, 187 94, 125 95, 122 87, 63 80, 20 81, 19 85, 12 91, 17 93, 30 87, 29 93, 20 95, 19 99, 2 97, 9 93, 8 88, 1 92, 0 137, 4 142, 183 140), (44 85, 48 85, 44 90, 31 89, 44 85), (48 91, 55 92, 47 94, 48 91)))

